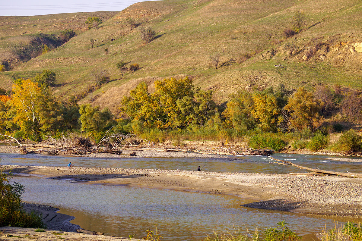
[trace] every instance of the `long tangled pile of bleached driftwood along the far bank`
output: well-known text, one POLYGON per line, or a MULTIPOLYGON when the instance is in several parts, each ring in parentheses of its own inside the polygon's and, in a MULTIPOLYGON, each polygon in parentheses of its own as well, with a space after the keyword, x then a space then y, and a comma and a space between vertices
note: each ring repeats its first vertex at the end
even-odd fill
MULTIPOLYGON (((2 135, 2 134, 0 134, 2 135)), ((24 144, 16 138, 9 135, 3 135, 11 138, 8 141, 16 142, 21 148, 22 154, 50 154, 50 155, 85 155, 97 153, 109 153, 117 155, 135 156, 134 151, 165 151, 165 152, 196 152, 201 154, 218 154, 218 155, 273 155, 273 150, 257 149, 252 150, 247 144, 244 146, 220 146, 220 147, 155 147, 153 142, 146 139, 130 141, 128 135, 119 135, 106 132, 101 141, 95 145, 88 138, 73 136, 66 137, 63 135, 60 139, 54 139, 49 135, 48 139, 42 143, 24 144), (136 144, 136 145, 134 145, 136 144), (127 154, 123 153, 127 151, 127 154), (133 151, 129 153, 129 151, 133 151)), ((131 138, 132 139, 132 138, 131 138)))

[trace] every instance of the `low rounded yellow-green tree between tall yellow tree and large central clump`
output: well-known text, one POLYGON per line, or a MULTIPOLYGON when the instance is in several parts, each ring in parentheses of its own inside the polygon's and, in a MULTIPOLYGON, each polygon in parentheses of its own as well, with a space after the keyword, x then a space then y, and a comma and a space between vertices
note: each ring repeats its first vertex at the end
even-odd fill
POLYGON ((109 109, 100 111, 99 106, 92 107, 90 104, 81 105, 79 109, 82 131, 102 132, 117 125, 109 109))

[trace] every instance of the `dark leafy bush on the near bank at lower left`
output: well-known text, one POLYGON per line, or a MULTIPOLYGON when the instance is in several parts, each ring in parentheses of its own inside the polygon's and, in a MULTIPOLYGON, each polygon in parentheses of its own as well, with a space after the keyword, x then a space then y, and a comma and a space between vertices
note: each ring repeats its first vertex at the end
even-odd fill
POLYGON ((21 194, 24 186, 11 183, 11 176, 0 172, 0 227, 45 228, 41 216, 28 214, 21 208, 21 194))

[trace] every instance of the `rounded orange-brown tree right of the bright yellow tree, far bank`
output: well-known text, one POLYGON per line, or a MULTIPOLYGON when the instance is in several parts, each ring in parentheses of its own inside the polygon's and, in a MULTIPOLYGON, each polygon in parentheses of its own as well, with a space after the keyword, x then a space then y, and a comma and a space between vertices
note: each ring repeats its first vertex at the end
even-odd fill
POLYGON ((319 115, 323 104, 323 102, 317 102, 312 93, 299 87, 284 107, 288 112, 286 118, 288 119, 289 130, 301 131, 304 128, 316 130, 323 124, 323 117, 319 115))

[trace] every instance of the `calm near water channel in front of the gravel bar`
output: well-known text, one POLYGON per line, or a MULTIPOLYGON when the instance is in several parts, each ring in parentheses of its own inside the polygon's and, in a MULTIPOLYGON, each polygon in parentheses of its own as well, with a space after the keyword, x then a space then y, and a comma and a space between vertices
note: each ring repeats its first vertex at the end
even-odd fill
POLYGON ((303 240, 312 240, 320 227, 333 228, 335 221, 356 221, 334 216, 241 207, 253 202, 230 195, 194 193, 117 185, 70 183, 31 176, 16 176, 26 187, 23 199, 60 208, 75 216, 73 223, 108 235, 135 238, 158 224, 164 240, 201 240, 215 228, 233 232, 233 226, 260 231, 285 220, 303 240), (244 226, 245 224, 245 226, 244 226))

